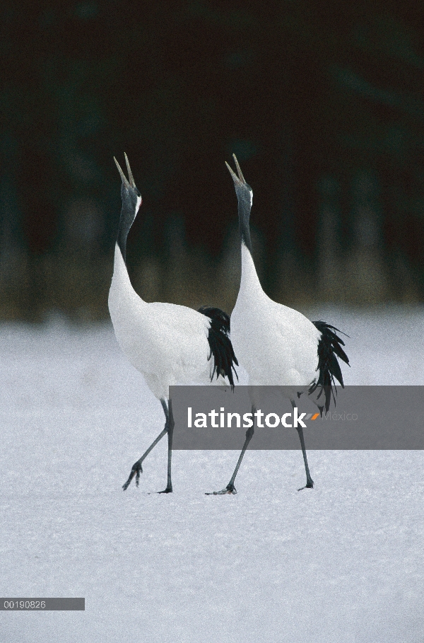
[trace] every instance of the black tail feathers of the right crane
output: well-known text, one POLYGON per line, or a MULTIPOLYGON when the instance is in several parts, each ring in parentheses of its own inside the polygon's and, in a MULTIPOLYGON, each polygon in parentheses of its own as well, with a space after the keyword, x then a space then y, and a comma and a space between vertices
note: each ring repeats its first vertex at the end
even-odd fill
MULTIPOLYGON (((337 358, 342 359, 346 364, 348 364, 348 366, 350 366, 350 364, 349 358, 342 348, 345 344, 335 332, 341 332, 341 330, 338 330, 335 326, 326 324, 321 320, 312 323, 315 328, 321 332, 321 337, 318 342, 317 371, 319 371, 319 376, 317 381, 312 383, 312 386, 310 386, 309 393, 313 393, 314 390, 321 387, 317 398, 319 399, 324 391, 325 402, 322 407, 319 407, 322 415, 324 408, 326 413, 329 411, 331 394, 333 395, 334 404, 336 404, 334 392, 336 392, 337 395, 337 389, 334 378, 336 378, 336 380, 341 384, 341 388, 344 388, 343 376, 341 374, 340 364, 338 364, 337 358)), ((344 332, 341 332, 341 334, 346 335, 344 332)), ((348 335, 346 335, 346 337, 348 337, 348 335)))

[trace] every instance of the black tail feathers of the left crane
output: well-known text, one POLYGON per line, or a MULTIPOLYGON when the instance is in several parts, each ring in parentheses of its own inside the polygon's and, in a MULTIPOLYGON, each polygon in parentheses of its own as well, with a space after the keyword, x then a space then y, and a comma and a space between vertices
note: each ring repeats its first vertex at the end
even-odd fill
POLYGON ((237 357, 235 357, 234 349, 230 340, 230 318, 227 313, 221 311, 220 308, 211 308, 210 306, 202 306, 199 308, 199 313, 206 315, 211 320, 211 325, 208 332, 208 342, 211 348, 211 354, 208 359, 213 355, 213 371, 211 381, 216 373, 216 378, 220 375, 227 377, 230 382, 232 390, 234 390, 234 378, 232 371, 238 380, 235 366, 238 366, 237 357))

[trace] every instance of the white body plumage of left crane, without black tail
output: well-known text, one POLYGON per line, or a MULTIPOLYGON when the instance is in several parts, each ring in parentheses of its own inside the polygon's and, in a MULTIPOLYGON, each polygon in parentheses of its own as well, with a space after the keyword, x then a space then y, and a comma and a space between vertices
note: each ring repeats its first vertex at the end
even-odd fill
POLYGON ((131 286, 118 245, 109 311, 119 347, 158 399, 169 398, 169 387, 176 384, 211 383, 211 320, 186 306, 143 301, 131 286))

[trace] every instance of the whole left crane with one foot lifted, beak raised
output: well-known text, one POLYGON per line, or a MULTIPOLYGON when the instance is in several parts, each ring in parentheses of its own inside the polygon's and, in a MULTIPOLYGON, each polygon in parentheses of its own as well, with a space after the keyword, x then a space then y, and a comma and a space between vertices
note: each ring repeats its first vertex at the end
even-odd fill
POLYGON ((232 371, 237 376, 237 359, 229 337, 230 318, 219 308, 204 306, 199 311, 194 311, 192 308, 173 303, 147 303, 134 291, 126 270, 126 237, 142 199, 134 183, 126 154, 129 180, 126 179, 116 158, 114 161, 122 178, 122 210, 109 291, 110 318, 119 346, 131 364, 143 374, 165 413, 165 428, 143 456, 134 463, 123 489, 129 487, 134 475, 136 485, 139 485, 140 473, 143 473, 141 463, 167 433, 167 486, 160 493, 170 493, 174 419, 169 387, 176 384, 208 384, 216 373, 218 383, 225 384, 224 378, 227 377, 233 388, 232 371))

